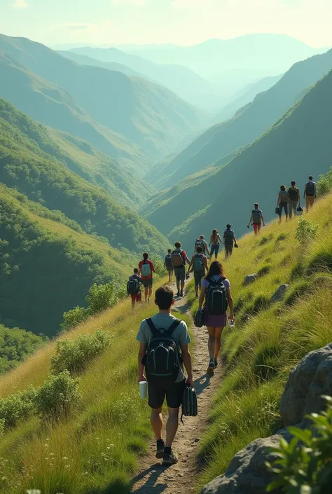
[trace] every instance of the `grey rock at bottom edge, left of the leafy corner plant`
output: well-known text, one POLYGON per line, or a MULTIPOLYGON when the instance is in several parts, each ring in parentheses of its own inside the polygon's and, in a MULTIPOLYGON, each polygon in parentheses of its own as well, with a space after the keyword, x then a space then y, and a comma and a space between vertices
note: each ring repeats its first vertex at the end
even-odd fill
MULTIPOLYGON (((266 488, 273 477, 265 462, 271 462, 275 458, 267 448, 279 446, 281 437, 289 441, 291 434, 282 429, 274 436, 250 443, 233 457, 225 474, 203 487, 201 494, 266 494, 266 488)), ((281 492, 273 491, 274 494, 281 492)))

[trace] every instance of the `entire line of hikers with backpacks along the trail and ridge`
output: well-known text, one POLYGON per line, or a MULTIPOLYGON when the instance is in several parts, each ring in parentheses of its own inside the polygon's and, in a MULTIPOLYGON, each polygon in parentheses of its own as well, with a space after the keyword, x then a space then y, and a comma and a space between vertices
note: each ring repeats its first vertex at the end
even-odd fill
MULTIPOLYGON (((305 184, 303 197, 306 199, 306 210, 308 211, 316 198, 316 184, 312 176, 305 184)), ((293 214, 301 214, 300 191, 296 187, 295 181, 291 182, 291 187, 287 190, 285 186, 281 186, 277 207, 280 221, 282 210, 285 212, 286 219, 293 217, 293 214)), ((254 227, 255 235, 258 235, 261 225, 265 225, 263 212, 259 209, 258 203, 254 204, 248 228, 251 224, 254 227)), ((175 276, 178 297, 184 295, 184 284, 189 273, 191 271, 194 273, 196 297, 199 294, 195 324, 198 327, 202 327, 203 324, 207 327, 209 355, 207 374, 209 376, 214 375, 218 366, 223 329, 228 320, 230 326, 234 326, 230 281, 226 277, 222 264, 217 260, 221 244, 225 246, 226 257, 233 253, 234 247, 237 247, 235 233, 230 224, 226 226, 222 238, 217 230, 212 231, 209 245, 204 235, 200 235, 195 240, 195 253, 191 259, 182 249, 181 243, 175 242, 175 248, 168 250, 164 262, 169 274, 169 281, 172 282, 173 275, 175 276), (187 269, 186 266, 188 266, 187 269), (227 314, 228 311, 229 314, 227 314)), ((135 284, 135 289, 138 289, 139 292, 131 294, 133 307, 136 301, 141 300, 140 284, 144 286, 145 301, 150 301, 153 273, 155 273, 153 263, 148 259, 148 253, 144 253, 143 260, 139 262, 138 268, 134 269, 134 275, 130 277, 128 282, 128 284, 135 284)), ((191 338, 186 322, 178 320, 172 315, 174 292, 170 286, 165 285, 155 291, 155 305, 158 306, 158 313, 143 320, 137 334, 139 341, 138 375, 139 383, 148 381, 151 426, 156 439, 155 456, 162 459, 162 465, 169 466, 178 461, 177 454, 172 450, 172 444, 179 425, 179 408, 182 406, 184 409, 188 389, 195 393, 191 354, 188 350, 191 338), (187 377, 185 377, 184 368, 187 377), (164 441, 162 436, 162 406, 165 398, 168 418, 164 441)))

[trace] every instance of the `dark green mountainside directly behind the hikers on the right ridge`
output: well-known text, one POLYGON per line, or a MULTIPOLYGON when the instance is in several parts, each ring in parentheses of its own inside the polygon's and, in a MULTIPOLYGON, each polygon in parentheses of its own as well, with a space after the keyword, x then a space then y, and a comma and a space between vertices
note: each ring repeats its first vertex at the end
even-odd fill
POLYGON ((310 173, 317 177, 330 167, 331 101, 332 71, 227 165, 193 187, 183 184, 165 204, 155 201, 146 217, 160 231, 187 241, 228 222, 244 233, 254 202, 271 219, 280 184, 296 180, 303 187, 310 173))

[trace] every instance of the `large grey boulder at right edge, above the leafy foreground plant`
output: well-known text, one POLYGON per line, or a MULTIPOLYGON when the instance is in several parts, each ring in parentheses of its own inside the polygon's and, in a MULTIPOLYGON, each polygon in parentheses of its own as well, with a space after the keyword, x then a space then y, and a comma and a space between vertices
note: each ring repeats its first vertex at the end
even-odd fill
POLYGON ((332 395, 332 343, 310 352, 289 374, 280 401, 284 425, 297 425, 307 413, 324 410, 322 394, 332 395))

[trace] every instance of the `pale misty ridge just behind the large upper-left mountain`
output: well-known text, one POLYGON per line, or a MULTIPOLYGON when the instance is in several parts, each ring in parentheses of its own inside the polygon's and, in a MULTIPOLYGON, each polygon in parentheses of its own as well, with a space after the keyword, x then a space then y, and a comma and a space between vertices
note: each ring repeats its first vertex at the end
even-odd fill
MULTIPOLYGON (((124 53, 117 48, 85 46, 73 48, 71 53, 100 60, 104 62, 100 67, 104 68, 111 69, 111 67, 105 67, 105 62, 130 67, 139 72, 141 76, 165 86, 184 100, 203 108, 215 107, 223 100, 211 83, 183 65, 175 65, 172 62, 169 64, 153 63, 137 55, 124 53)), ((64 54, 64 56, 68 55, 64 54)), ((78 60, 75 61, 78 62, 78 60)), ((93 64, 95 65, 95 62, 93 64)))

